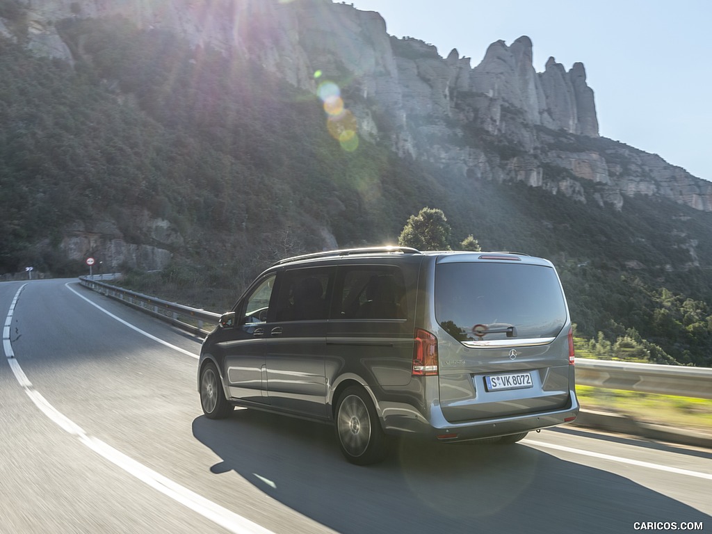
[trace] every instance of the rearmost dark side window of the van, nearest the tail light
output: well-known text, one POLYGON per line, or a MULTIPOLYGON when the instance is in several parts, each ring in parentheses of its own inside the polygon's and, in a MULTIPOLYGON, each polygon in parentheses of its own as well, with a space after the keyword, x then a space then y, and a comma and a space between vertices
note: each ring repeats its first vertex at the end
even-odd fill
POLYGON ((340 296, 340 317, 343 319, 408 317, 403 273, 394 266, 348 268, 340 296))

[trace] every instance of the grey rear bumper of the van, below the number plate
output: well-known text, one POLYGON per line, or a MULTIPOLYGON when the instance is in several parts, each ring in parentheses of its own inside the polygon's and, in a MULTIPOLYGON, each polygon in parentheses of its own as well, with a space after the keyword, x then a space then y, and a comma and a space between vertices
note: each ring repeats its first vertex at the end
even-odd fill
POLYGON ((550 412, 451 423, 445 419, 438 406, 431 407, 429 420, 422 414, 416 414, 412 407, 401 410, 391 406, 384 409, 383 422, 388 434, 416 434, 439 441, 468 441, 567 424, 573 422, 579 409, 576 394, 570 391, 567 407, 550 412))

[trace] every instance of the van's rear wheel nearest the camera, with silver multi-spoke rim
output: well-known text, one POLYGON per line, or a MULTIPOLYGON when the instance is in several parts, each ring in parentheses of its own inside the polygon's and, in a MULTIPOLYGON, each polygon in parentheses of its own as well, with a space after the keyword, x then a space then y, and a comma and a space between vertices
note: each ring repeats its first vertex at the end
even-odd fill
POLYGON ((336 437, 345 459, 358 466, 376 464, 388 454, 388 440, 368 394, 347 387, 336 405, 336 437))

